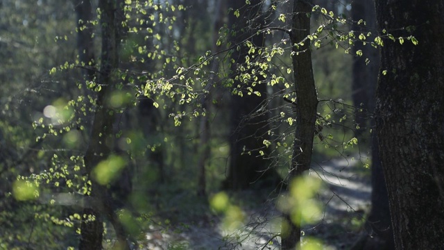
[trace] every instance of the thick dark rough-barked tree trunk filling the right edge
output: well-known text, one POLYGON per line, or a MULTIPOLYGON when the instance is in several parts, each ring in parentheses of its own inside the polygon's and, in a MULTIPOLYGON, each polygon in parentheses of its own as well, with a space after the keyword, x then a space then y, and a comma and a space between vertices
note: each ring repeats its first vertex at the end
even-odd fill
POLYGON ((376 0, 384 40, 376 124, 396 249, 444 247, 444 3, 376 0), (411 32, 411 33, 410 33, 411 32))

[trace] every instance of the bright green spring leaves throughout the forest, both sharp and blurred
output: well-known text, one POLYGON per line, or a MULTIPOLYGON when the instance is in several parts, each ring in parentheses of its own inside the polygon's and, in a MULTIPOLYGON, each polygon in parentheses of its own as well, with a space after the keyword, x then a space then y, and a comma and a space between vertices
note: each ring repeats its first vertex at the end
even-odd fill
MULTIPOLYGON (((243 8, 249 8, 248 2, 243 8)), ((80 77, 80 72, 92 69, 97 76, 102 73, 99 66, 103 62, 98 59, 83 62, 80 56, 75 55, 74 41, 82 30, 76 28, 76 22, 82 20, 75 19, 71 3, 3 1, 0 8, 0 54, 7 61, 0 69, 3 93, 6 93, 1 94, 0 176, 7 181, 1 184, 4 191, 0 194, 0 221, 6 224, 0 230, 0 246, 21 249, 38 242, 39 247, 48 249, 74 247, 80 221, 87 219, 80 208, 85 206, 84 196, 94 188, 90 178, 111 188, 119 182, 124 169, 131 165, 137 165, 133 185, 138 190, 130 195, 129 200, 138 214, 128 215, 133 211, 119 210, 123 224, 139 224, 139 228, 130 230, 136 236, 153 224, 159 226, 156 222, 160 216, 152 216, 151 212, 169 205, 156 201, 160 189, 157 177, 162 173, 153 169, 153 161, 146 157, 153 152, 164 152, 162 159, 168 163, 168 185, 176 185, 171 189, 194 189, 196 183, 190 179, 197 172, 191 167, 196 163, 196 135, 200 133, 196 131, 196 124, 203 116, 211 117, 214 131, 210 142, 213 160, 207 168, 210 169, 207 172, 209 189, 215 192, 210 198, 210 208, 223 214, 223 221, 230 230, 243 226, 246 218, 241 208, 230 202, 225 192, 216 192, 219 191, 221 173, 228 157, 225 145, 228 117, 224 112, 208 113, 201 100, 209 92, 215 93, 212 106, 226 111, 230 95, 260 96, 262 93, 257 91, 257 87, 266 85, 269 94, 266 103, 246 117, 245 122, 266 115, 271 129, 264 135, 261 147, 246 149, 244 153, 271 160, 271 167, 278 169, 283 178, 286 176, 294 139, 293 106, 297 105, 297 100, 293 92, 294 72, 290 60, 291 13, 282 10, 287 4, 285 2, 264 1, 265 13, 270 15, 267 23, 248 27, 255 33, 264 34, 265 47, 255 47, 249 38, 233 44, 230 35, 233 35, 235 27, 225 25, 215 41, 218 51, 208 49, 212 45, 211 32, 207 31, 210 29, 210 17, 206 15, 205 19, 198 21, 195 16, 199 14, 196 11, 199 6, 194 1, 123 1, 121 6, 117 6, 121 15, 120 61, 114 76, 117 79, 115 90, 106 100, 106 105, 117 116, 113 131, 115 142, 112 143, 117 145, 115 150, 120 154, 116 152, 99 163, 92 176, 87 176, 83 156, 92 130, 91 117, 99 108, 96 95, 102 91, 102 86, 97 78, 80 77), (10 11, 14 8, 15 11, 10 11), (184 20, 187 20, 188 26, 181 22, 184 20), (235 63, 232 55, 240 49, 246 49, 248 55, 245 63, 235 65, 236 70, 232 72, 230 69, 235 63), (216 72, 212 69, 215 62, 219 63, 216 72), (212 82, 212 74, 216 74, 215 83, 212 82), (233 74, 235 76, 231 78, 233 74), (234 84, 237 82, 239 84, 234 84), (145 133, 146 124, 135 125, 146 122, 136 110, 142 99, 150 99, 159 114, 160 119, 151 131, 155 136, 145 133), (146 197, 150 190, 155 191, 150 194, 151 197, 146 197), (40 242, 45 245, 40 245, 40 242)), ((200 11, 205 11, 200 8, 200 11)), ((95 15, 87 24, 92 27, 96 39, 95 47, 91 49, 99 54, 97 41, 102 35, 99 32, 101 10, 96 9, 95 15)), ((230 10, 227 15, 242 18, 237 9, 230 10)), ((343 68, 350 62, 348 54, 356 43, 371 47, 383 47, 387 42, 418 44, 413 35, 395 37, 391 35, 393 31, 357 33, 350 27, 365 25, 364 20, 353 21, 321 6, 314 6, 307 15, 316 20, 316 27, 296 46, 310 44, 318 58, 315 65, 331 60, 329 65, 333 71, 349 71, 343 68), (336 62, 340 63, 332 66, 336 62)), ((87 28, 87 24, 83 28, 87 28)), ((407 27, 408 32, 414 29, 407 27)), ((357 51, 351 56, 366 55, 357 51)), ((383 69, 383 74, 389 70, 383 69)), ((346 94, 348 89, 345 89, 349 85, 348 76, 338 74, 334 81, 341 85, 330 90, 327 90, 327 85, 333 84, 327 83, 327 78, 332 79, 331 74, 319 70, 315 76, 321 82, 318 90, 323 98, 316 121, 316 151, 329 156, 355 153, 356 147, 359 147, 353 133, 356 129, 352 119, 355 108, 348 101, 343 101, 349 98, 346 94), (332 149, 334 153, 325 153, 325 149, 332 149)), ((293 190, 298 184, 290 185, 293 190)), ((302 199, 302 194, 296 195, 300 189, 296 188, 295 194, 291 192, 291 197, 282 202, 292 208, 307 205, 307 200, 311 202, 316 191, 306 197, 307 200, 293 201, 302 199)), ((284 206, 282 210, 291 209, 289 207, 284 206)), ((107 237, 110 240, 112 233, 107 237)), ((171 249, 186 247, 185 244, 170 246, 171 249)))

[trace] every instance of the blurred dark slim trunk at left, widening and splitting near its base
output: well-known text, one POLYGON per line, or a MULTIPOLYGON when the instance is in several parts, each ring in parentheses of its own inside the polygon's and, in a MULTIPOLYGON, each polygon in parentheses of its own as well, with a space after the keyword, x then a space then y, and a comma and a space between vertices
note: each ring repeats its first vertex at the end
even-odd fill
POLYGON ((107 99, 111 94, 116 78, 117 69, 117 27, 114 22, 116 5, 113 0, 99 1, 101 9, 101 68, 98 83, 101 90, 97 92, 96 111, 92 126, 89 146, 85 153, 85 167, 92 182, 91 201, 83 211, 83 220, 80 225, 81 235, 79 249, 102 249, 103 222, 102 217, 110 220, 116 231, 117 240, 121 249, 129 249, 126 244, 125 233, 119 219, 114 214, 112 199, 108 188, 91 178, 94 167, 102 160, 107 159, 113 149, 114 136, 112 124, 115 110, 108 108, 107 99))

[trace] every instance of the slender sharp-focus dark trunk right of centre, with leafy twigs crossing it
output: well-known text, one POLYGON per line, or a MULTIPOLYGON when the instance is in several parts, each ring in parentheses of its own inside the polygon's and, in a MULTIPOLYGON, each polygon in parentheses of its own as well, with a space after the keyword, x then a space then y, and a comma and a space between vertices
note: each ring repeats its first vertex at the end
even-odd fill
MULTIPOLYGON (((305 41, 304 46, 298 45, 310 34, 310 15, 307 14, 311 14, 311 8, 311 1, 293 1, 290 38, 293 45, 292 63, 296 88, 296 131, 289 181, 302 176, 310 168, 313 150, 318 98, 309 42, 305 41)), ((300 244, 300 221, 294 222, 289 214, 284 214, 282 223, 282 249, 295 249, 300 244)))

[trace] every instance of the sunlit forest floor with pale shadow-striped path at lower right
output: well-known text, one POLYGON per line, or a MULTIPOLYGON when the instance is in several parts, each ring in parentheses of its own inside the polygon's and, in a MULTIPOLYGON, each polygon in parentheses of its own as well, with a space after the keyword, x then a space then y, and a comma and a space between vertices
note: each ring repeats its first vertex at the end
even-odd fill
MULTIPOLYGON (((323 206, 318 221, 303 226, 302 244, 312 237, 318 240, 319 249, 350 249, 366 233, 364 223, 371 193, 369 170, 358 160, 345 158, 316 165, 310 174, 325 184, 317 193, 323 206)), ((257 191, 233 194, 233 203, 241 208, 245 224, 229 231, 224 226, 226 215, 212 213, 187 194, 176 196, 167 204, 170 210, 166 213, 171 218, 167 224, 171 226, 151 226, 152 230, 146 233, 146 249, 278 249, 280 212, 274 205, 275 199, 257 191), (180 201, 189 204, 175 209, 180 201)))

